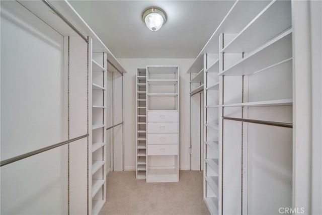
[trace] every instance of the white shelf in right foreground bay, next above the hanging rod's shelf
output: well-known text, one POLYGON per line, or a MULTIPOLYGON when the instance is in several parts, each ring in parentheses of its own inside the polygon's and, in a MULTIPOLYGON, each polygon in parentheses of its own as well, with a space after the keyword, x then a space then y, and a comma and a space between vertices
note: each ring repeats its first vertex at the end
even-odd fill
POLYGON ((292 57, 292 29, 288 29, 219 73, 220 76, 251 75, 292 57))

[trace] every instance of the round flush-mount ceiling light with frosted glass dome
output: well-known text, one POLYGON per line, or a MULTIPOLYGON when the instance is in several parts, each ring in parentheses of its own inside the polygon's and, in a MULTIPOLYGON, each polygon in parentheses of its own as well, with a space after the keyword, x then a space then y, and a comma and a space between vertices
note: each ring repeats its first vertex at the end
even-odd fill
POLYGON ((143 12, 142 20, 148 29, 157 31, 167 21, 167 15, 162 9, 151 7, 143 12))

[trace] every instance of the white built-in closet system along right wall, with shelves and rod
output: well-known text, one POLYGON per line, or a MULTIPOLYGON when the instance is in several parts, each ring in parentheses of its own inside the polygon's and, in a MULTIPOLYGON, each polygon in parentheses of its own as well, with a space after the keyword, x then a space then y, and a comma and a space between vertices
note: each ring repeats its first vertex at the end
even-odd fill
POLYGON ((189 72, 202 64, 210 213, 291 207, 291 2, 237 1, 189 72))

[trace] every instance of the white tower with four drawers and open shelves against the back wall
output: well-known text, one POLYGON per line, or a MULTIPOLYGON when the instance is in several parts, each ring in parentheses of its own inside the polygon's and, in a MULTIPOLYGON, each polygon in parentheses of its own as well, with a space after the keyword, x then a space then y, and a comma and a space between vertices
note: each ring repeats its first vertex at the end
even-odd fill
POLYGON ((179 66, 146 67, 146 182, 179 181, 179 66))

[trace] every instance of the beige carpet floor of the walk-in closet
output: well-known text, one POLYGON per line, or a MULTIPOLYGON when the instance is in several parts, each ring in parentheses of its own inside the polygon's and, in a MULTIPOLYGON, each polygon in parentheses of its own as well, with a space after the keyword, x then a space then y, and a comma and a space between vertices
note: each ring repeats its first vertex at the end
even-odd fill
POLYGON ((100 214, 209 214, 202 171, 180 171, 177 183, 145 183, 135 172, 110 172, 100 214))

